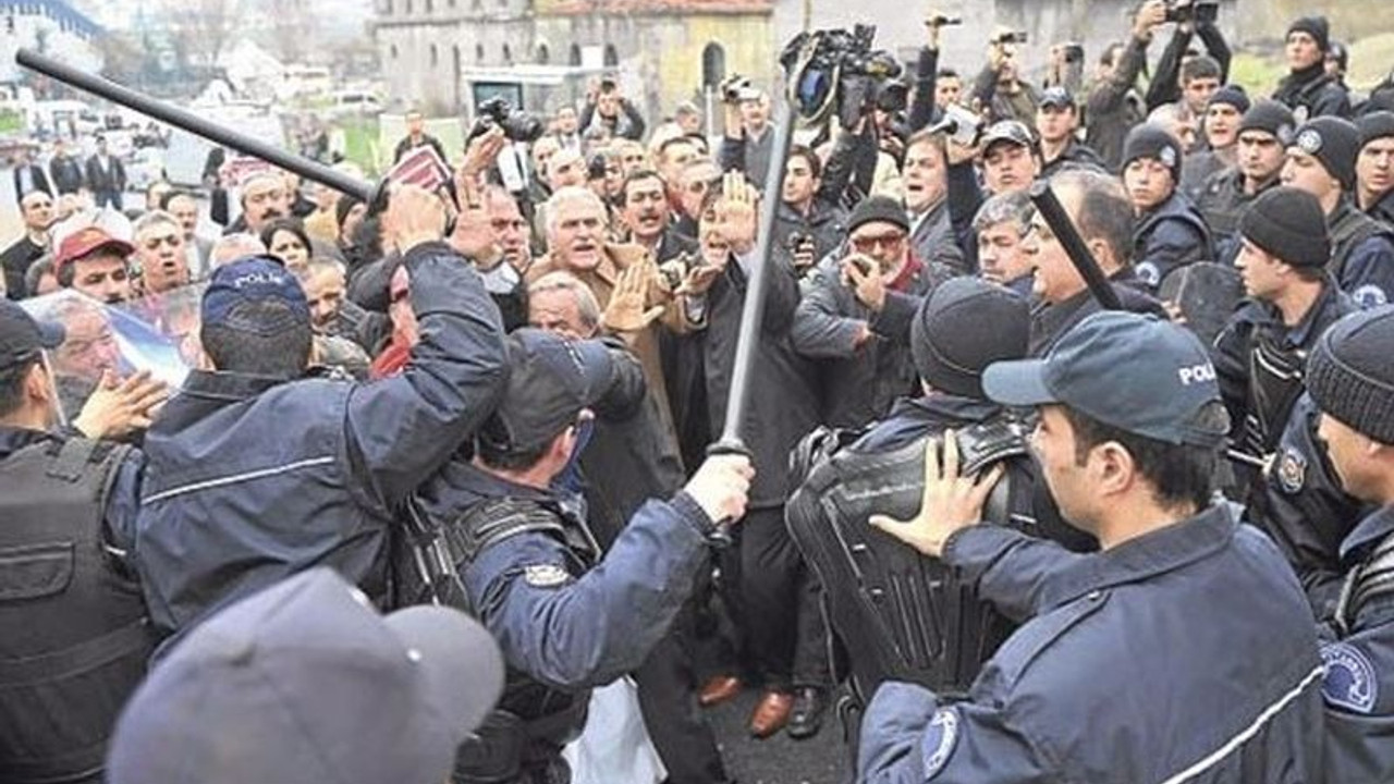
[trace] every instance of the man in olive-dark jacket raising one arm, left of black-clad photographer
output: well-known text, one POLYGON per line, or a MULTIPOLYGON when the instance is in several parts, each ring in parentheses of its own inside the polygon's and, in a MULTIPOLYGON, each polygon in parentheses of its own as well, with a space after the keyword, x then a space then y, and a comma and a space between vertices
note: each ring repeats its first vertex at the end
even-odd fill
POLYGON ((1147 45, 1153 32, 1167 21, 1167 4, 1147 0, 1133 18, 1126 45, 1114 43, 1098 60, 1096 81, 1085 102, 1089 130, 1085 144, 1093 148, 1110 170, 1117 170, 1124 155, 1124 138, 1146 116, 1138 95, 1138 74, 1147 63, 1147 45))

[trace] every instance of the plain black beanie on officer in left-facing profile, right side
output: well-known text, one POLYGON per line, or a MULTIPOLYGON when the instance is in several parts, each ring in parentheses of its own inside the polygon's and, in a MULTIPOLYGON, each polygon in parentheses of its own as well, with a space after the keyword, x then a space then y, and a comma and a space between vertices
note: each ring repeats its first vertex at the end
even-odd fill
POLYGON ((1324 266, 1331 259, 1322 202, 1291 186, 1253 199, 1239 216, 1239 236, 1292 266, 1324 266))

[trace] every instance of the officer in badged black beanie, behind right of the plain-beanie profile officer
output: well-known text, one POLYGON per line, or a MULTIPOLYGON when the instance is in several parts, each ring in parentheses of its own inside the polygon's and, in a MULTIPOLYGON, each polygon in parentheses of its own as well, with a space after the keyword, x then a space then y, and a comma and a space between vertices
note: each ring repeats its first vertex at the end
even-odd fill
POLYGON ((1282 166, 1282 184, 1317 197, 1331 232, 1337 283, 1361 307, 1394 299, 1394 230, 1352 204, 1361 131, 1340 117, 1317 117, 1298 127, 1282 166))

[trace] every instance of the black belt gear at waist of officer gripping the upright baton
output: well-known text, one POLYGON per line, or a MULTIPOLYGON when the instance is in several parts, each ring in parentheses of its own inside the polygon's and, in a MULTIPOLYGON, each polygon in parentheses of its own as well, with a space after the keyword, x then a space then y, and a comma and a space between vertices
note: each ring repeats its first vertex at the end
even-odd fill
POLYGON ((484 720, 454 759, 454 784, 570 784, 562 746, 585 725, 588 695, 531 721, 507 710, 484 720))

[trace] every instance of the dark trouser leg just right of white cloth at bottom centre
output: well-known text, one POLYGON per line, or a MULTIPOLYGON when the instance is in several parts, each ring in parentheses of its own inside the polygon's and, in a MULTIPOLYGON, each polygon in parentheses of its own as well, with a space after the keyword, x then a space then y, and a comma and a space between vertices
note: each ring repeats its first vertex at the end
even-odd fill
POLYGON ((717 735, 697 704, 694 621, 689 603, 644 665, 634 671, 638 707, 672 784, 723 784, 726 767, 717 735))

